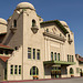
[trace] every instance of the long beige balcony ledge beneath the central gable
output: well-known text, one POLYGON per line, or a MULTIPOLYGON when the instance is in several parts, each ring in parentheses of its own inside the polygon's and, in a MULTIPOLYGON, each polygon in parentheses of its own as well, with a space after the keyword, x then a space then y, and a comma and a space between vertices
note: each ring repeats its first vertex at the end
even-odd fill
POLYGON ((50 37, 50 38, 53 38, 53 39, 56 39, 56 40, 60 40, 63 42, 65 42, 65 40, 66 40, 64 37, 60 37, 59 34, 54 34, 52 32, 43 32, 43 35, 50 37))

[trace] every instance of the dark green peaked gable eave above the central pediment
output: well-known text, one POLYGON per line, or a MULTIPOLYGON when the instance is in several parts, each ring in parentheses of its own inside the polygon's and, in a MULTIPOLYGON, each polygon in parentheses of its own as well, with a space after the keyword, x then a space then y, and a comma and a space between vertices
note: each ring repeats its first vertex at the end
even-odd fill
POLYGON ((69 33, 69 31, 61 24, 59 20, 44 21, 44 22, 41 22, 40 24, 45 24, 51 22, 54 22, 62 30, 64 34, 69 33))

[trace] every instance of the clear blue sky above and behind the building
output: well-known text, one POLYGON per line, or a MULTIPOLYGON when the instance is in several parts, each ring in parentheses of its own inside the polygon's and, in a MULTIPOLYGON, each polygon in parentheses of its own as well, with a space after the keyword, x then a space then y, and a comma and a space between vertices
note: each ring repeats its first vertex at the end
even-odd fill
POLYGON ((74 33, 75 53, 83 56, 83 0, 0 0, 0 18, 7 20, 20 2, 32 3, 44 21, 65 21, 74 33))

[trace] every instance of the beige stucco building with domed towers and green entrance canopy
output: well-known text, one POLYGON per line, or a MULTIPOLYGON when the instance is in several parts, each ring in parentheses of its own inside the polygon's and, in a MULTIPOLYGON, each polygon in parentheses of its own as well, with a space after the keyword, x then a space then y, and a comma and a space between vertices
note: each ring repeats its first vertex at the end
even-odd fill
POLYGON ((19 3, 8 22, 0 22, 0 33, 7 32, 1 43, 13 49, 7 60, 7 80, 80 76, 74 34, 66 22, 43 21, 29 2, 19 3))

